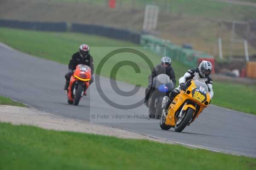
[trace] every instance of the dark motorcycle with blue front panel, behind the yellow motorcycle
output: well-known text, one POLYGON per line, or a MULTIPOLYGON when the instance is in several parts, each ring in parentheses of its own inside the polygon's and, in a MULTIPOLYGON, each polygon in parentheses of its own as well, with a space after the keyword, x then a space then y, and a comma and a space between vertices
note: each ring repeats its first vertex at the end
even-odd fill
POLYGON ((148 99, 148 115, 151 118, 160 119, 163 97, 169 96, 169 93, 174 89, 174 85, 168 75, 160 74, 154 77, 152 88, 148 99))

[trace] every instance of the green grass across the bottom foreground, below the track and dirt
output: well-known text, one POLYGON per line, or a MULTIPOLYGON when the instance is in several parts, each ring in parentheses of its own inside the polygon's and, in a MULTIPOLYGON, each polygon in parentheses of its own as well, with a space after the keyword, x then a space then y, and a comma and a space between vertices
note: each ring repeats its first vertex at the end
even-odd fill
POLYGON ((252 170, 256 159, 180 145, 0 123, 1 170, 252 170))

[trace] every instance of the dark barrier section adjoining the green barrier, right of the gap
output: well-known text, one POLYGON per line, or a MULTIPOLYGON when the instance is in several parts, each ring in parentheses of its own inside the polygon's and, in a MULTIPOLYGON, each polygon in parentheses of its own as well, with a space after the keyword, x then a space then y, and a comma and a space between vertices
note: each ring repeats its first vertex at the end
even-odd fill
POLYGON ((73 23, 71 25, 71 31, 101 35, 101 36, 115 38, 119 40, 131 41, 133 43, 138 43, 138 44, 140 43, 140 34, 136 32, 131 32, 126 29, 117 29, 117 28, 105 27, 105 26, 73 23))

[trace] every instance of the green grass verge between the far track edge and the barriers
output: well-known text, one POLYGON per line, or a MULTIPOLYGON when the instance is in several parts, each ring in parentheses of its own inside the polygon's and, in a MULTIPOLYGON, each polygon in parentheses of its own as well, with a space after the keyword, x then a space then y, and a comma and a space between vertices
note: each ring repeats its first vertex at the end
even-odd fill
MULTIPOLYGON (((35 32, 0 28, 0 41, 31 55, 36 55, 41 58, 64 64, 69 62, 71 55, 78 50, 79 45, 86 42, 91 46, 91 54, 93 55, 96 68, 108 52, 119 47, 137 46, 136 48, 147 55, 154 65, 158 64, 162 57, 143 50, 142 47, 138 47, 137 44, 95 35, 68 32, 35 32)), ((101 75, 110 77, 110 72, 113 66, 123 60, 134 61, 137 63, 141 73, 136 74, 134 69, 130 66, 123 66, 118 70, 116 79, 131 84, 147 86, 147 77, 150 74, 148 65, 141 58, 138 58, 137 55, 132 55, 130 53, 114 55, 102 67, 101 75)), ((172 66, 175 70, 177 81, 189 69, 188 66, 177 61, 173 61, 172 66)), ((212 104, 256 115, 256 110, 253 106, 253 100, 256 96, 256 87, 243 84, 216 82, 213 80, 213 89, 215 95, 212 104)))

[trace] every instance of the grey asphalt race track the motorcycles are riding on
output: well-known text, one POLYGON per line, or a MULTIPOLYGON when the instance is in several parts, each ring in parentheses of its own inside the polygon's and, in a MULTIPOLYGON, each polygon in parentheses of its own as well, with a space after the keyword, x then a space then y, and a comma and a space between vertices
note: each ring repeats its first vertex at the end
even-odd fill
MULTIPOLYGON (((144 135, 156 136, 169 141, 203 147, 224 153, 256 157, 256 116, 210 106, 182 133, 161 130, 158 120, 137 118, 147 115, 145 106, 122 110, 111 107, 99 96, 95 83, 79 106, 67 104, 62 90, 67 66, 33 57, 0 46, 0 95, 8 96, 29 106, 66 117, 78 118, 123 128, 144 135), (112 115, 131 115, 131 118, 111 119, 112 115), (92 115, 110 115, 110 118, 94 118, 92 115), (110 123, 106 123, 110 122, 110 123), (124 123, 128 122, 128 123, 124 123)), ((108 78, 101 77, 106 96, 119 104, 134 104, 144 95, 141 88, 132 97, 116 94, 108 78)), ((130 91, 133 85, 118 82, 120 89, 130 91)))

